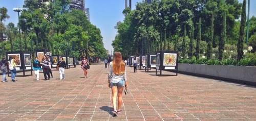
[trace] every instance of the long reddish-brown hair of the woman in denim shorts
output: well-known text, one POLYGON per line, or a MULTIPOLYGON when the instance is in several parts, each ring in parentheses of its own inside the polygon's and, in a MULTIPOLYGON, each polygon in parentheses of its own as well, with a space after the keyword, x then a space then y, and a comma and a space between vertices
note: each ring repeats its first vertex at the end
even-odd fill
POLYGON ((125 71, 125 65, 122 60, 122 55, 120 52, 115 52, 114 59, 113 59, 113 72, 115 74, 121 74, 125 71))

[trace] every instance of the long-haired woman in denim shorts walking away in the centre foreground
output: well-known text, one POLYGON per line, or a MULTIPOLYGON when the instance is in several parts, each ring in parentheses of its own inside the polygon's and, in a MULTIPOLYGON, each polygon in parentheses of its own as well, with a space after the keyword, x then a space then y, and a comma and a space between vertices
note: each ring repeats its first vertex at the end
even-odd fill
POLYGON ((112 89, 112 104, 114 116, 118 116, 122 104, 123 86, 127 88, 125 64, 120 52, 115 52, 114 59, 110 62, 108 86, 112 89), (118 96, 118 109, 116 109, 116 98, 118 96))

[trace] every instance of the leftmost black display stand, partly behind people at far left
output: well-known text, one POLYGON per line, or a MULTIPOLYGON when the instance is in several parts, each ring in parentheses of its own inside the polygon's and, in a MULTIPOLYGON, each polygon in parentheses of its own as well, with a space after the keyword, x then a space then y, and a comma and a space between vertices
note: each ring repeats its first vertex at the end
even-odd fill
MULTIPOLYGON (((16 71, 17 72, 23 72, 23 76, 26 76, 25 75, 25 71, 30 71, 31 72, 31 75, 29 76, 32 76, 33 75, 33 72, 32 72, 32 60, 31 60, 31 54, 30 52, 23 52, 23 51, 17 51, 17 52, 6 52, 6 60, 9 60, 9 57, 12 56, 15 58, 15 63, 16 63, 16 71)), ((9 72, 9 69, 7 69, 7 74, 8 74, 8 77, 10 72, 9 72)))

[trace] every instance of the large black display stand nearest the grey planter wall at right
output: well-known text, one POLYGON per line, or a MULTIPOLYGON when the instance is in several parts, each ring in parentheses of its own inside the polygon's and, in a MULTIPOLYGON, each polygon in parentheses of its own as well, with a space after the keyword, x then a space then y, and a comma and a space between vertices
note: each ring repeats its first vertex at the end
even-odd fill
POLYGON ((158 76, 158 72, 160 72, 160 76, 162 76, 162 70, 176 70, 176 75, 178 76, 178 51, 158 51, 156 59, 156 75, 158 76), (160 70, 160 71, 157 71, 160 70))

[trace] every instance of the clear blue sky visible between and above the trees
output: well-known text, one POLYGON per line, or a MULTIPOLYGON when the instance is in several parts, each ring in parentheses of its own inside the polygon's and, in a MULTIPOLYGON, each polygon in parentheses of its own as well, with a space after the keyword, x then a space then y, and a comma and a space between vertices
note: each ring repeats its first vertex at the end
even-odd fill
MULTIPOLYGON (((132 0, 132 10, 135 9, 137 2, 142 1, 143 0, 132 0)), ((100 29, 104 47, 106 50, 110 51, 110 54, 111 50, 113 50, 111 43, 117 34, 117 30, 114 29, 114 26, 118 21, 123 21, 124 19, 122 14, 125 6, 124 2, 125 0, 85 0, 86 8, 90 8, 90 21, 100 29)), ((239 0, 239 2, 242 3, 243 0, 239 0)), ((12 9, 15 7, 22 8, 23 4, 24 0, 0 0, 0 8, 6 7, 8 9, 7 14, 10 16, 9 19, 4 21, 5 25, 9 22, 13 22, 15 26, 17 26, 18 13, 14 12, 12 9)), ((253 5, 256 5, 256 1, 250 0, 250 17, 252 15, 256 16, 256 7, 253 5)))

